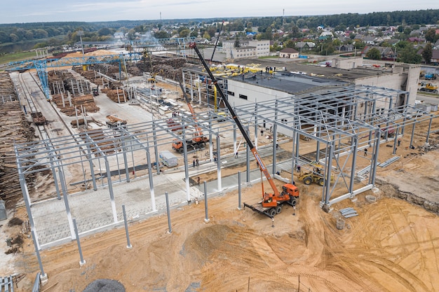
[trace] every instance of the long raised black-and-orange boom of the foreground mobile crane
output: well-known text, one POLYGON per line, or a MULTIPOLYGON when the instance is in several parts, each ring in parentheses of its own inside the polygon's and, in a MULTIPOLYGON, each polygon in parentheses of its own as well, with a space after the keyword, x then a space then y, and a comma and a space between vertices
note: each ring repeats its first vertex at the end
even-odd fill
MULTIPOLYGON (((215 85, 215 88, 217 88, 217 92, 219 92, 219 95, 222 97, 224 104, 226 104, 227 109, 229 109, 229 113, 231 114, 231 117, 234 119, 236 125, 238 126, 239 130, 241 131, 241 134, 243 134, 243 137, 245 141, 247 142, 248 147, 250 148, 250 151, 252 151, 253 155, 255 156, 255 159, 259 165, 259 169, 264 174, 266 180, 269 182, 271 188, 273 189, 273 195, 275 197, 278 197, 280 195, 278 189, 276 188, 276 185, 271 178, 268 169, 266 169, 264 162, 262 162, 262 159, 259 157, 259 153, 257 153, 257 150, 255 148, 255 145, 253 145, 252 141, 250 140, 250 137, 248 136, 247 132, 245 132, 245 129, 243 125, 241 124, 241 121, 239 120, 238 116, 236 116, 236 113, 234 109, 229 104, 229 101, 227 100, 226 96, 224 95, 224 92, 222 92, 221 87, 218 84, 217 78, 213 76, 212 71, 210 71, 210 68, 208 64, 205 62, 203 55, 201 55, 200 50, 198 50, 196 43, 190 43, 189 48, 192 48, 195 50, 196 55, 198 55, 198 58, 201 60, 201 63, 203 64, 203 67, 205 71, 208 72, 208 75, 210 79, 212 80, 212 83, 215 85)), ((264 194, 262 194, 264 196, 264 194)))

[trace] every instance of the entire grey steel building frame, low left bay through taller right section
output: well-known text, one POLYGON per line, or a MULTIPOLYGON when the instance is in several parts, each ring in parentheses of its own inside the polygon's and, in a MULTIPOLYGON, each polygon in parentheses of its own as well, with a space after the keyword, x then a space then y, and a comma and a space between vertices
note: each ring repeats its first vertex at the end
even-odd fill
MULTIPOLYGON (((401 90, 365 86, 336 87, 239 106, 236 108, 236 113, 244 122, 243 124, 246 124, 248 131, 254 131, 255 146, 257 146, 257 136, 263 121, 273 124, 273 174, 277 172, 276 144, 279 132, 290 133, 288 136, 292 137, 293 141, 291 168, 286 169, 291 172, 291 181, 294 180, 294 169, 298 163, 303 167, 310 165, 312 161, 323 165, 325 186, 322 188, 321 205, 330 207, 335 202, 353 198, 374 186, 381 141, 393 139, 395 149, 396 137, 404 133, 405 127, 412 125, 412 140, 417 123, 429 120, 431 127, 431 120, 436 116, 406 105, 407 100, 408 92, 401 90), (400 102, 401 99, 403 102, 400 102), (400 103, 402 105, 399 105, 400 103), (379 111, 377 111, 378 108, 379 111), (389 131, 387 130, 390 127, 396 131, 392 138, 388 137, 389 131), (300 137, 306 137, 311 141, 316 150, 304 153, 301 147, 304 142, 300 137), (358 183, 355 180, 358 177, 357 153, 365 147, 372 148, 370 176, 366 183, 358 183), (328 183, 333 176, 334 181, 328 183)), ((214 150, 212 137, 216 137, 217 155, 220 159, 219 139, 225 132, 230 132, 231 127, 233 127, 234 151, 236 151, 236 125, 230 117, 220 123, 213 123, 215 113, 206 111, 197 113, 196 118, 197 125, 209 135, 211 161, 214 150), (206 123, 201 123, 205 116, 208 116, 208 120, 206 123)), ((90 188, 94 191, 107 188, 112 205, 112 214, 107 214, 107 216, 112 218, 112 223, 117 223, 120 214, 114 200, 113 184, 129 182, 131 172, 135 174, 137 169, 147 169, 151 202, 146 212, 157 211, 154 198, 154 176, 161 173, 161 167, 158 165, 154 171, 152 168, 154 159, 151 155, 158 162, 158 146, 169 145, 171 139, 179 139, 184 144, 184 172, 189 201, 189 152, 185 144, 187 138, 191 137, 191 133, 194 132, 195 123, 190 113, 182 113, 175 119, 183 126, 181 134, 173 132, 168 127, 167 119, 160 119, 128 127, 91 130, 67 137, 16 144, 18 174, 31 227, 34 227, 31 211, 34 202, 29 196, 26 176, 34 172, 48 171, 52 174, 56 196, 58 200, 63 198, 65 202, 69 234, 72 239, 75 235, 72 214, 69 210, 68 197, 72 193, 72 188, 69 186, 81 183, 87 188, 90 183, 90 188), (145 154, 146 163, 142 162, 145 154), (67 185, 66 172, 70 167, 81 169, 82 177, 67 185)), ((430 127, 426 142, 431 132, 430 127)), ((250 170, 248 153, 249 151, 247 151, 247 169, 250 170)), ((217 164, 217 170, 218 189, 221 190, 220 163, 217 164)), ((102 226, 95 226, 95 228, 102 228, 102 226)))

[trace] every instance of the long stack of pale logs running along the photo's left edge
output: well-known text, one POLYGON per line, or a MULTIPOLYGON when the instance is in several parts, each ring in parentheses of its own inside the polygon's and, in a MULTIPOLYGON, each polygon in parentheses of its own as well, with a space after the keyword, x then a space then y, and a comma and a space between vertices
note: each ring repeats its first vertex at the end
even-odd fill
MULTIPOLYGON (((22 197, 14 143, 32 141, 34 132, 20 108, 20 102, 0 103, 0 200, 6 201, 9 206, 22 197)), ((35 176, 26 176, 29 188, 35 186, 35 176)))

